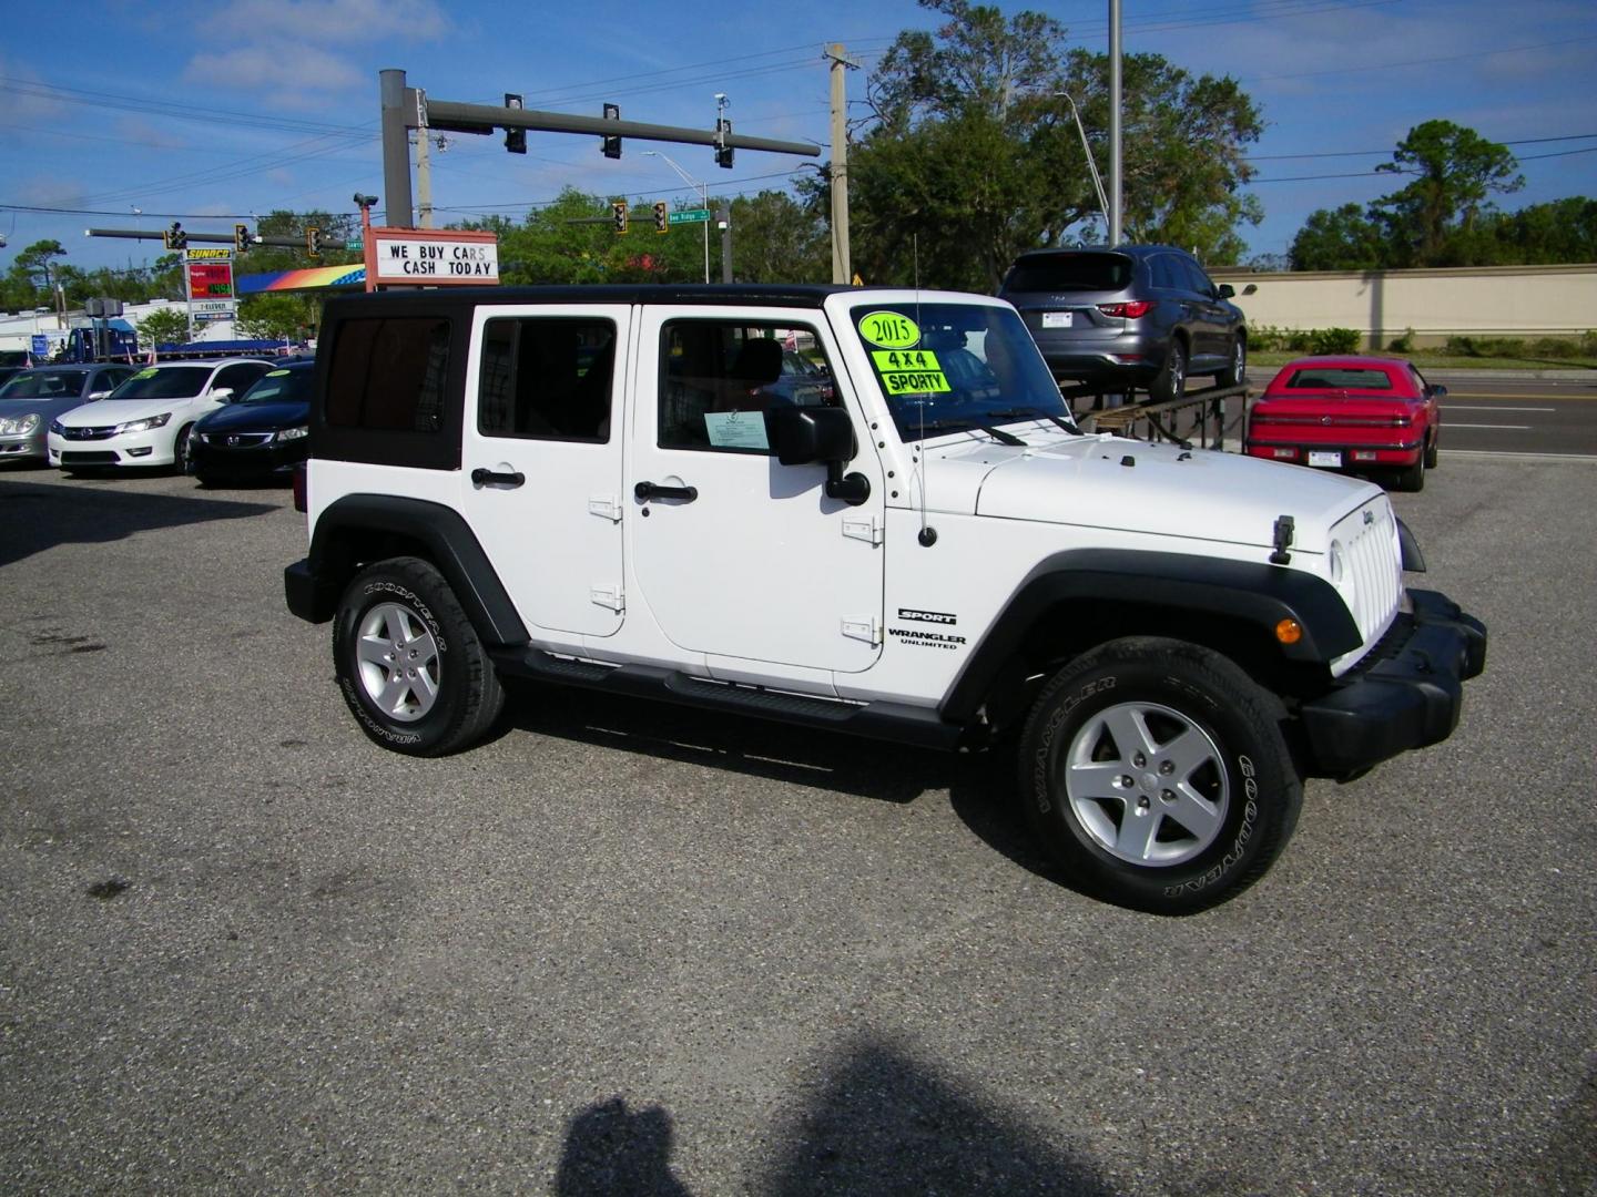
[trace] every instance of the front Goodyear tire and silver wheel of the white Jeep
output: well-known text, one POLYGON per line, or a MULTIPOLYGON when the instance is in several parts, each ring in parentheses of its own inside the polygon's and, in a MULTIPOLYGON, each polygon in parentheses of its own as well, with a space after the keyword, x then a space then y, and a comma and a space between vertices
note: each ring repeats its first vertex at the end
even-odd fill
POLYGON ((1020 739, 1033 832, 1116 905, 1190 915, 1250 886, 1292 836, 1303 784, 1279 701, 1180 640, 1115 640, 1043 688, 1020 739))

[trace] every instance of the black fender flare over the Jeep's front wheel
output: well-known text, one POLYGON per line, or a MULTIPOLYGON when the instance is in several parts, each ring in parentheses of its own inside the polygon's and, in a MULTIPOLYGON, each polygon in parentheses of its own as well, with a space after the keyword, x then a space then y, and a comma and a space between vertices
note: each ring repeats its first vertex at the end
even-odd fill
POLYGON ((1302 570, 1177 552, 1072 549, 1043 559, 1016 587, 949 688, 942 717, 974 718, 1032 629, 1049 610, 1081 600, 1219 614, 1260 629, 1268 643, 1279 643, 1278 622, 1295 619, 1303 637, 1279 648, 1297 662, 1329 662, 1362 643, 1335 587, 1302 570))

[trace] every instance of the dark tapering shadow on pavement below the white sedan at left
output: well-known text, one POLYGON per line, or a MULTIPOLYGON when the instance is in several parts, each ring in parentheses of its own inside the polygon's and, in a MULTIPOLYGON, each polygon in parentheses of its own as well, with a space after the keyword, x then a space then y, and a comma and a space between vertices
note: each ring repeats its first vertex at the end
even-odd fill
POLYGON ((40 485, 0 476, 0 565, 57 544, 118 541, 150 528, 264 516, 265 503, 40 485))

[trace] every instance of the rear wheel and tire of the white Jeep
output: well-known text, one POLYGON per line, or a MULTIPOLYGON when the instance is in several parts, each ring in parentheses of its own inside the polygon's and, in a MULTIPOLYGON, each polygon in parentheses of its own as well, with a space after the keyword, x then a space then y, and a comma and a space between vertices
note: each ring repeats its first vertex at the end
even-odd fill
POLYGON ((420 557, 356 575, 332 621, 332 661, 361 729, 412 757, 470 747, 505 705, 476 629, 420 557))

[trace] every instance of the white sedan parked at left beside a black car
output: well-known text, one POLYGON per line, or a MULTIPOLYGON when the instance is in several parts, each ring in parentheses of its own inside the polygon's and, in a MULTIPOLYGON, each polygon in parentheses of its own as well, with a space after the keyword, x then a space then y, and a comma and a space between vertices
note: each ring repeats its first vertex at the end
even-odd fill
POLYGON ((188 431, 248 391, 270 362, 220 358, 147 365, 109 397, 56 417, 50 425, 50 464, 188 468, 188 431))

